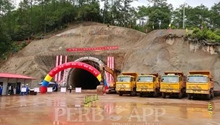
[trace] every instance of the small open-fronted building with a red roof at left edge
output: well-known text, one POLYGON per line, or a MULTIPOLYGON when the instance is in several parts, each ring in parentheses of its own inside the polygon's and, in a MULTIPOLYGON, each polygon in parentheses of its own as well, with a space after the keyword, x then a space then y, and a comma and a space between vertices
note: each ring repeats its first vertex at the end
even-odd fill
POLYGON ((30 88, 32 80, 35 80, 35 78, 19 74, 0 73, 1 95, 19 94, 22 84, 28 84, 30 88))

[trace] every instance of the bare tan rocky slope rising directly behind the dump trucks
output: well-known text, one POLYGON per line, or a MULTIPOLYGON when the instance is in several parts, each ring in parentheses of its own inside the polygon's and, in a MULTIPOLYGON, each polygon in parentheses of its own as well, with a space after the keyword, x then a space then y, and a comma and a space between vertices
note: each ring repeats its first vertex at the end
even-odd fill
POLYGON ((139 73, 164 71, 210 70, 216 89, 220 90, 220 58, 218 46, 204 46, 184 41, 183 38, 156 38, 145 49, 127 55, 123 70, 139 73))

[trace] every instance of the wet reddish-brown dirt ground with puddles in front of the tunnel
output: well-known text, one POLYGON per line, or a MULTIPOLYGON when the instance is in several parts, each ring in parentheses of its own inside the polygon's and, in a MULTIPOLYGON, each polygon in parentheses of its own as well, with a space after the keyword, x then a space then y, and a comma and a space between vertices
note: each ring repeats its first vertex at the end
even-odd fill
POLYGON ((0 125, 220 125, 219 97, 208 111, 209 101, 115 94, 83 106, 85 95, 0 97, 0 125))

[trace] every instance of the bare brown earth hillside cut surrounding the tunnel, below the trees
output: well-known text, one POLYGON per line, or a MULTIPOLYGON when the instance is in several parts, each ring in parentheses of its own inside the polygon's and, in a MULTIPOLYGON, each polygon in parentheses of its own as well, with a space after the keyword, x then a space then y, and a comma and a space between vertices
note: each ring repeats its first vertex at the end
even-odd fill
POLYGON ((37 83, 54 67, 54 55, 76 54, 67 53, 66 48, 116 45, 119 46, 117 51, 84 54, 114 53, 117 56, 124 53, 123 58, 118 61, 122 62, 119 66, 122 71, 162 74, 165 70, 178 70, 187 74, 189 70, 211 70, 217 85, 217 82, 220 82, 220 58, 215 53, 218 47, 184 42, 184 35, 184 30, 155 30, 145 34, 128 28, 107 27, 97 23, 81 24, 48 39, 32 41, 10 58, 0 70, 36 77, 37 80, 33 82, 37 83), (166 39, 164 35, 169 33, 176 34, 178 38, 166 39))

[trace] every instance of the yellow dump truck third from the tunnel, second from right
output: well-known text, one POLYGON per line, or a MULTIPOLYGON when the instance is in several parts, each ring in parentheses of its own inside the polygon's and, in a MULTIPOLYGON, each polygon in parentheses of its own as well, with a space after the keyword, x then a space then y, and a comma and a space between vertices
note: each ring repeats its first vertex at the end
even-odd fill
POLYGON ((162 97, 176 95, 182 98, 186 92, 186 77, 183 72, 167 71, 161 76, 160 92, 162 97))

